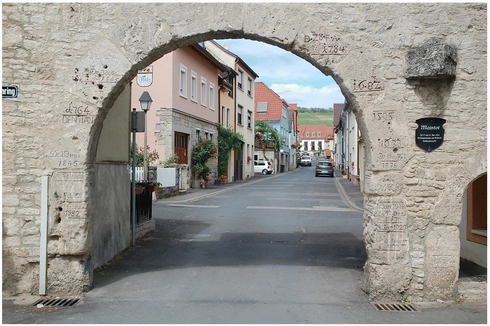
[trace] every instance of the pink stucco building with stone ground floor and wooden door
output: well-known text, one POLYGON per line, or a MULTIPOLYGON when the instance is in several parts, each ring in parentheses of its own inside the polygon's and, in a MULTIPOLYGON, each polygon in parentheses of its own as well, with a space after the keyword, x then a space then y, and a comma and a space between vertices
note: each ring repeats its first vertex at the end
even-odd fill
MULTIPOLYGON (((164 55, 132 81, 132 108, 141 110, 138 99, 145 91, 153 100, 147 113, 147 144, 150 151, 158 152, 159 161, 177 154, 179 163, 188 164, 196 141, 217 141, 218 77, 225 70, 225 65, 196 44, 164 55)), ((144 133, 137 134, 136 143, 143 147, 144 133)), ((217 162, 210 166, 211 177, 216 177, 217 162)))

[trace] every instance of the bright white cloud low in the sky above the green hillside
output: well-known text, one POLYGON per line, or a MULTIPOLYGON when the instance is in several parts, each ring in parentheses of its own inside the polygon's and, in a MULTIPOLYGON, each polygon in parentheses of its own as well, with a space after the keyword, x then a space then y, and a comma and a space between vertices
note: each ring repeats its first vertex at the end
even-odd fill
POLYGON ((343 103, 344 97, 337 85, 314 88, 299 84, 267 85, 288 103, 297 103, 301 107, 334 107, 334 103, 343 103))

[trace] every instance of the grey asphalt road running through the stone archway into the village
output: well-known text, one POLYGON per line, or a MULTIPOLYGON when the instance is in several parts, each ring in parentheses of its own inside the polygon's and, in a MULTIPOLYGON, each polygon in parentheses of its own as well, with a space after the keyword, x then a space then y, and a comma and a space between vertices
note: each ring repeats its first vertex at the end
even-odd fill
POLYGON ((486 323, 464 307, 377 311, 361 291, 363 213, 314 166, 185 203, 153 206, 157 230, 94 272, 69 308, 3 301, 22 324, 486 323))

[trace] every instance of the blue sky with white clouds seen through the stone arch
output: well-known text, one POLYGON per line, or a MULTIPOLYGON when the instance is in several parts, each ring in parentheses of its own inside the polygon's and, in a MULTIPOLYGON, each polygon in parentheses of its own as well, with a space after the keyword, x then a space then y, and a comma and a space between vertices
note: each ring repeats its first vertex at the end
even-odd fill
POLYGON ((248 39, 216 40, 239 56, 264 82, 289 103, 301 107, 333 107, 343 103, 339 86, 300 57, 263 42, 248 39))

